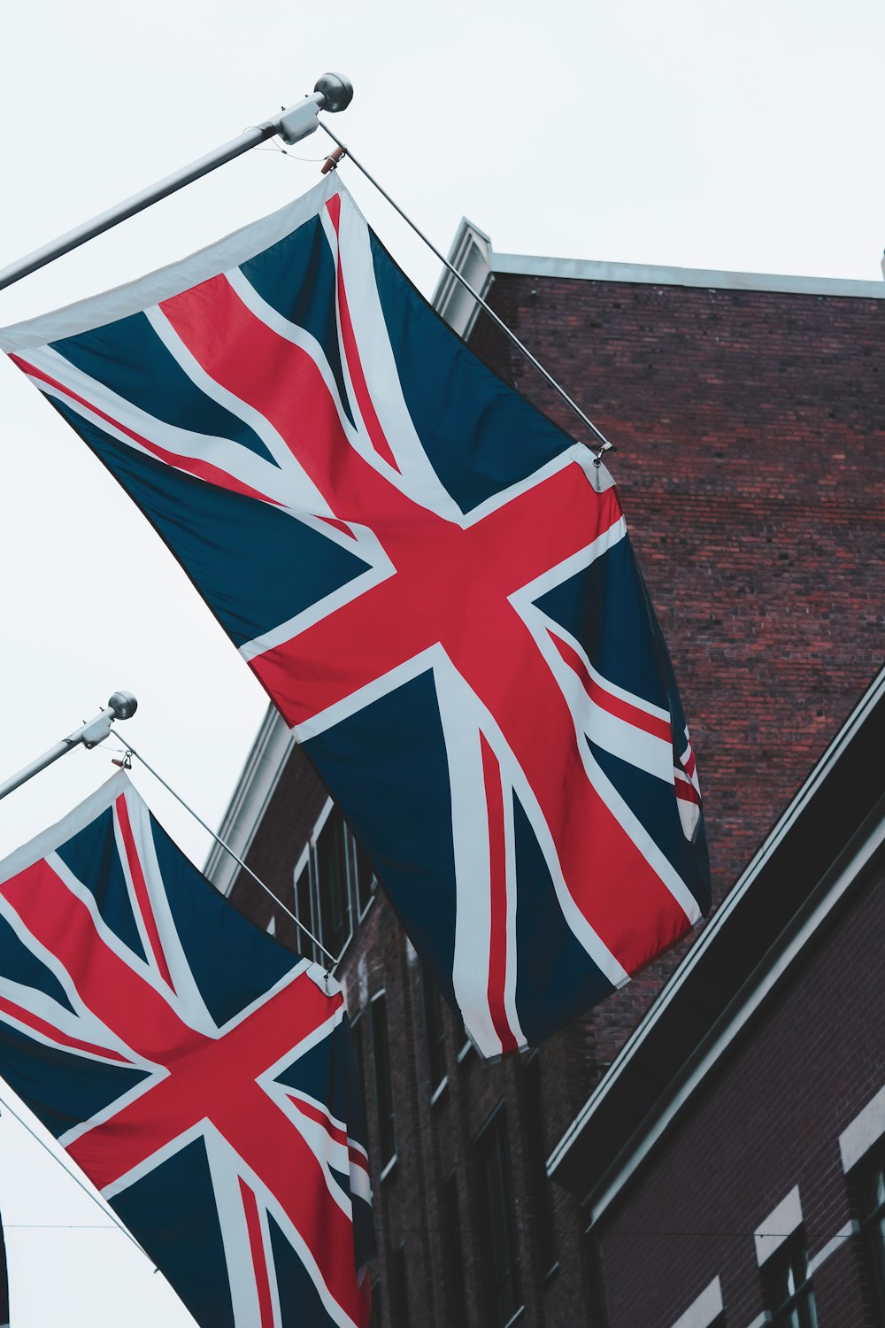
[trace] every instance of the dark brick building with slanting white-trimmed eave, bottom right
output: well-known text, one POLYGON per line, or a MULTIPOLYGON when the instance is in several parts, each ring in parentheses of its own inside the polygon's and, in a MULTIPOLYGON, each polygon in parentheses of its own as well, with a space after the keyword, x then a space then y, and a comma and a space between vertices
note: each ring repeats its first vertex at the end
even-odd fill
POLYGON ((885 672, 551 1158, 609 1328, 885 1323, 884 742, 885 672))

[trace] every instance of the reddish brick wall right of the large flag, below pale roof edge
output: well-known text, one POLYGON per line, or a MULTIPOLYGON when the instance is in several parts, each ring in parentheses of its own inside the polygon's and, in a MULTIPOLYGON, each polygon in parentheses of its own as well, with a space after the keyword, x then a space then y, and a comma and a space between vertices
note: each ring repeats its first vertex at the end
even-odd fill
MULTIPOLYGON (((616 445, 718 903, 885 659, 885 300, 500 275, 491 303, 616 445)), ((586 436, 488 320, 471 345, 586 436)), ((686 948, 600 1008, 604 1062, 686 948)))

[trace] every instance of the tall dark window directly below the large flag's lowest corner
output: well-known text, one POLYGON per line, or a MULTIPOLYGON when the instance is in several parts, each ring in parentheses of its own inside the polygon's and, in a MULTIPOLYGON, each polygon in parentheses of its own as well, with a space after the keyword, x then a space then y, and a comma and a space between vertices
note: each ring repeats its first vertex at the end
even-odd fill
POLYGON ((503 1105, 476 1139, 476 1179, 487 1323, 506 1328, 523 1308, 523 1287, 503 1105))

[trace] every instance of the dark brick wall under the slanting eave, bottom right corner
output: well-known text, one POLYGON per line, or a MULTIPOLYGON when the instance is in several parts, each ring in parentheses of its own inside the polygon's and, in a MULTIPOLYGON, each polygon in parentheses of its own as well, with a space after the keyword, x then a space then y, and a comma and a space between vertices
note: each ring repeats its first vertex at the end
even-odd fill
MULTIPOLYGON (((812 1259, 854 1215, 839 1135, 885 1082, 884 882, 880 858, 604 1218, 608 1328, 671 1328, 716 1275, 746 1328, 763 1309, 752 1232, 793 1186, 812 1259)), ((821 1325, 877 1328, 858 1274, 854 1236, 813 1274, 821 1325)))

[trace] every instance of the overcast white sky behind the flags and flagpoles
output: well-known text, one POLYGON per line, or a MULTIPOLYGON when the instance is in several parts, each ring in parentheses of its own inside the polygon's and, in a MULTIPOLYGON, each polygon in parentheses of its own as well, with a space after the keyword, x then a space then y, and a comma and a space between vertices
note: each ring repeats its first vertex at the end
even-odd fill
MULTIPOLYGON (((330 120, 448 248, 462 214, 502 252, 881 279, 878 0, 401 0, 4 7, 0 267, 345 72, 330 120)), ((321 133, 292 154, 321 158, 321 133)), ((0 324, 139 276, 268 212, 316 162, 253 150, 0 292, 0 324)), ((342 175, 429 292, 438 263, 342 175)), ((581 397, 617 441, 605 402, 581 397)), ((0 778, 138 696, 121 734, 218 823, 264 710, 252 676, 102 467, 0 363, 0 778)), ((616 475, 629 466, 618 453, 616 475)), ((0 855, 111 773, 82 750, 0 805, 0 855)), ((207 837, 135 782, 200 862, 207 837)), ((8 1116, 13 1328, 190 1324, 161 1276, 8 1116), (142 1317, 138 1317, 142 1315, 142 1317)))

